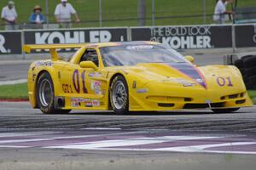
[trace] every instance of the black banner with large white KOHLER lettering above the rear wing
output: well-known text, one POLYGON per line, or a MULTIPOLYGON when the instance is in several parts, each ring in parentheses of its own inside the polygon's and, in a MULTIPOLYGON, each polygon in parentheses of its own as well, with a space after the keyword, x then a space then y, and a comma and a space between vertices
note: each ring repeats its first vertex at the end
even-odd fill
POLYGON ((122 42, 127 41, 127 28, 25 31, 24 35, 26 44, 122 42))

